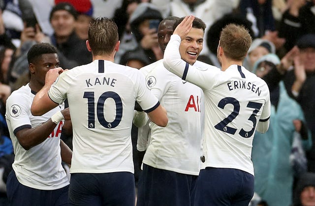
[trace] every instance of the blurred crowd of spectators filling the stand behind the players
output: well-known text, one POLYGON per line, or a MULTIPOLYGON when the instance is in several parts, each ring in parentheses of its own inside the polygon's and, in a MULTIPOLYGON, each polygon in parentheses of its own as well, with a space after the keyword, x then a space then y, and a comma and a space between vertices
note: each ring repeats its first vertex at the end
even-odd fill
MULTIPOLYGON (((198 60, 218 67, 221 29, 244 25, 253 42, 243 65, 270 89, 270 128, 255 135, 252 147, 252 206, 315 206, 315 0, 0 0, 0 205, 6 204, 5 181, 14 158, 5 103, 29 82, 32 45, 54 45, 63 69, 90 63, 89 22, 106 16, 119 30, 115 62, 140 69, 163 58, 159 22, 189 14, 207 26, 198 60), (307 159, 302 171, 294 167, 296 140, 307 159)), ((134 148, 137 132, 134 126, 134 148)), ((62 139, 71 148, 71 137, 62 139)), ((141 155, 136 149, 133 158, 137 179, 141 155)))

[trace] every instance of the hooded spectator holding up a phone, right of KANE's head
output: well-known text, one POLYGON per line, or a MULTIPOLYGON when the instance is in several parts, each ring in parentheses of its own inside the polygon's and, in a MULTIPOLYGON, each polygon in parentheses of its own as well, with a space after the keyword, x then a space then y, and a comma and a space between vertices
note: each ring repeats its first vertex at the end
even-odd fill
MULTIPOLYGON (((126 56, 136 55, 143 57, 144 65, 153 63, 163 58, 162 52, 158 46, 158 24, 162 20, 162 15, 158 9, 151 3, 140 3, 132 13, 129 23, 132 34, 137 41, 137 48, 126 51, 121 59, 126 56), (150 22, 156 21, 154 28, 150 28, 150 22)), ((117 58, 117 57, 116 57, 117 58)), ((127 65, 131 66, 139 63, 139 59, 130 59, 127 65)))

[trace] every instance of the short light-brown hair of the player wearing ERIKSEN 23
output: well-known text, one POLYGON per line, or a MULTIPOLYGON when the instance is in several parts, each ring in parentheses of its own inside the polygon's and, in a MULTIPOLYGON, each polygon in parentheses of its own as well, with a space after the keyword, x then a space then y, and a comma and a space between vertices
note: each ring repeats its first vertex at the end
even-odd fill
POLYGON ((228 24, 221 31, 220 46, 229 59, 243 60, 251 44, 252 37, 243 25, 228 24))

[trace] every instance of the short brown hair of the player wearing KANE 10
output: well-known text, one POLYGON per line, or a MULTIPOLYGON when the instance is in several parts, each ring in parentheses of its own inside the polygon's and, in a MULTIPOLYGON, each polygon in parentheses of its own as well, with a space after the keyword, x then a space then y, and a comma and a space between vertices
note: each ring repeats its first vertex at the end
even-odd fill
POLYGON ((111 54, 118 42, 117 25, 107 17, 92 20, 88 40, 94 56, 111 54))

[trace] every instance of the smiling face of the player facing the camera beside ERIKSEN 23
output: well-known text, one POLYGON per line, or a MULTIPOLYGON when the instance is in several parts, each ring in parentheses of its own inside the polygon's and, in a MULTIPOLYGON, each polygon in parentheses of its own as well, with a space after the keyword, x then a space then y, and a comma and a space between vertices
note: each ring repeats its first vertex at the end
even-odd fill
POLYGON ((196 62, 202 50, 203 36, 204 31, 202 29, 192 28, 181 41, 179 46, 181 58, 191 65, 196 62))

